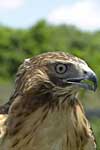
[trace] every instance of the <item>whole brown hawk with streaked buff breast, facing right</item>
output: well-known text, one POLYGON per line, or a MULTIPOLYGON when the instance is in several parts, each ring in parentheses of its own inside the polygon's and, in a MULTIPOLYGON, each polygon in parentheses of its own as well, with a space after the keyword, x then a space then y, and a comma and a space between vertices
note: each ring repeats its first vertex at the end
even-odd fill
POLYGON ((95 73, 82 59, 64 52, 26 59, 0 109, 0 150, 96 150, 80 88, 97 88, 95 73))

